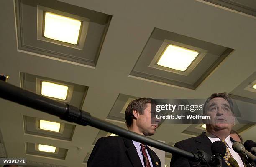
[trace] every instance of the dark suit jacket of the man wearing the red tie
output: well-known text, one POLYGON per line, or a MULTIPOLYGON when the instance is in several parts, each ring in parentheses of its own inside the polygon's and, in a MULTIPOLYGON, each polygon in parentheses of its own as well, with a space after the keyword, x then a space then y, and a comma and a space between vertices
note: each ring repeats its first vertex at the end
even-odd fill
MULTIPOLYGON (((160 159, 148 148, 152 164, 160 167, 160 159)), ((89 157, 87 167, 143 167, 133 141, 120 136, 100 138, 89 157)))

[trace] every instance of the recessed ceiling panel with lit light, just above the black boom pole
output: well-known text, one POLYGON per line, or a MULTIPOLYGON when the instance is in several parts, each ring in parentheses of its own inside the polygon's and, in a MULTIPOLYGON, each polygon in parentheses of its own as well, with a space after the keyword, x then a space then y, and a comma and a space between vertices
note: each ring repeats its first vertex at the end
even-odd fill
POLYGON ((89 87, 20 72, 21 88, 81 109, 89 87))

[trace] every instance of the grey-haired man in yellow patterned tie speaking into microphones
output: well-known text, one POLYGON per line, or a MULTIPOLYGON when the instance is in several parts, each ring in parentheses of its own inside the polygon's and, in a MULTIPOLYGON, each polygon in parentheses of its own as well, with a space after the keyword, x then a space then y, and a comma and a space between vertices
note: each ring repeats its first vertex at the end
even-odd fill
MULTIPOLYGON (((233 102, 230 97, 226 93, 212 94, 205 102, 203 113, 210 116, 210 119, 203 120, 206 123, 207 132, 203 132, 197 137, 177 142, 174 146, 194 153, 197 153, 198 150, 203 150, 207 154, 212 155, 212 143, 222 141, 226 145, 226 155, 223 158, 222 167, 230 166, 228 162, 229 157, 233 157, 238 162, 239 167, 244 167, 240 156, 232 149, 232 144, 235 141, 230 137, 230 131, 235 119, 233 102)), ((170 167, 201 166, 196 164, 186 158, 173 155, 170 167)))

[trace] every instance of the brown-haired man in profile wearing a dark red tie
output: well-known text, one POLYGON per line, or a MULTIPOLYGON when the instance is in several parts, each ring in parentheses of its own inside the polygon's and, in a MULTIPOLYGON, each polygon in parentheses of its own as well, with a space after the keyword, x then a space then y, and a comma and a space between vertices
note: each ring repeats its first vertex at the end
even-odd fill
MULTIPOLYGON (((151 98, 129 103, 125 110, 129 130, 140 135, 154 135, 160 120, 152 118, 151 98)), ((88 159, 87 167, 160 167, 160 159, 147 145, 120 136, 100 138, 88 159)))

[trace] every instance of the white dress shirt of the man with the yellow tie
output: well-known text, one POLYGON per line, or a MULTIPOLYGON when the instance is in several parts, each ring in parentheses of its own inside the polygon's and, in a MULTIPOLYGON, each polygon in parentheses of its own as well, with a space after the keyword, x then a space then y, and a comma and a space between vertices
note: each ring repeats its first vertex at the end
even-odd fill
MULTIPOLYGON (((212 135, 211 133, 207 132, 206 133, 207 137, 211 140, 211 142, 215 142, 215 141, 221 141, 217 136, 212 135)), ((232 157, 237 161, 239 167, 244 167, 243 165, 243 161, 241 160, 241 157, 239 156, 239 154, 237 152, 235 152, 232 148, 233 143, 230 140, 230 135, 228 135, 228 137, 225 139, 225 142, 228 145, 228 150, 230 152, 230 154, 232 155, 232 157)))

